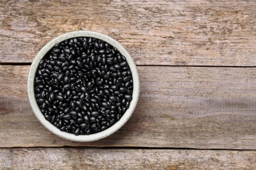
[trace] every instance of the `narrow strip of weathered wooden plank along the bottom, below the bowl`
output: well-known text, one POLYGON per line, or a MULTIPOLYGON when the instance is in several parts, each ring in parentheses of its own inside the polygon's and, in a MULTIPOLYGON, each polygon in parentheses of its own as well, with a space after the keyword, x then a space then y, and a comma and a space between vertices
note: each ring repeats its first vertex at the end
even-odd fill
POLYGON ((0 149, 3 169, 254 169, 256 151, 106 148, 0 149))

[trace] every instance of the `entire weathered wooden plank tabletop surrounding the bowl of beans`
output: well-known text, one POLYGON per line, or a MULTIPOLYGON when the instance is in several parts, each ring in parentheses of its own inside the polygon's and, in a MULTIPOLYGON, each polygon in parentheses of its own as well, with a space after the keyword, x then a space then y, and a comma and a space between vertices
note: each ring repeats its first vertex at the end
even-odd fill
POLYGON ((256 1, 0 3, 0 169, 255 169, 256 1), (33 115, 30 63, 54 37, 91 30, 138 65, 133 116, 110 137, 60 139, 33 115))

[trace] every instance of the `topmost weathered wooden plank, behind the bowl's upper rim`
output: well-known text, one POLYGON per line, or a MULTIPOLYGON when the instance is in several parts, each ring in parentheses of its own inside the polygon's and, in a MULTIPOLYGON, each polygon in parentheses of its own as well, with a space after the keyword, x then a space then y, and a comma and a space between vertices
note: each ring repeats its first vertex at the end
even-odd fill
POLYGON ((98 31, 138 65, 256 65, 256 1, 1 1, 0 62, 31 62, 54 37, 98 31))

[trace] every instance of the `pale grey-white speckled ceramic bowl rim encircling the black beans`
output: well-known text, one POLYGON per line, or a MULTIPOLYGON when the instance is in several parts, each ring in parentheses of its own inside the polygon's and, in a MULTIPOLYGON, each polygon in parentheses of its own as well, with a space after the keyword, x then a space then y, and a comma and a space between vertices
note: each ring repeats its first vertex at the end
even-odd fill
POLYGON ((103 35, 101 33, 96 33, 92 31, 74 31, 70 33, 66 33, 64 35, 60 35, 59 37, 56 37, 52 41, 48 42, 41 48, 37 56, 35 57, 31 68, 30 73, 28 75, 28 98, 30 99, 30 105, 32 106, 32 110, 43 126, 45 126, 49 131, 54 133, 55 135, 58 135, 59 137, 62 137, 64 139, 68 139, 70 141, 78 141, 78 142, 89 142, 89 141, 96 141, 98 139, 103 139, 104 137, 108 137, 112 133, 116 132, 118 129, 120 129, 131 117, 131 114, 133 114, 133 111, 135 110, 135 107, 137 105, 137 101, 139 99, 139 92, 140 92, 140 82, 139 82, 139 75, 137 71, 137 67, 135 65, 135 62, 131 58, 129 52, 125 50, 125 48, 119 44, 116 40, 112 39, 111 37, 108 37, 106 35, 103 35), (127 62, 129 64, 129 67, 131 69, 131 73, 133 76, 133 99, 131 101, 131 104, 129 106, 129 109, 126 110, 125 114, 121 117, 119 121, 116 122, 113 126, 109 127, 108 129, 104 131, 100 131, 98 133, 94 133, 91 135, 74 135, 72 133, 67 133, 65 131, 60 131, 57 127, 55 127, 53 124, 45 120, 45 117, 41 113, 41 110, 39 109, 37 102, 35 101, 35 93, 34 93, 34 78, 35 73, 37 71, 37 66, 39 65, 39 62, 41 59, 47 54, 51 48, 53 48, 54 44, 58 42, 62 42, 66 39, 74 38, 74 37, 94 37, 96 39, 100 39, 102 41, 108 42, 112 46, 116 47, 119 52, 125 56, 127 59, 127 62))

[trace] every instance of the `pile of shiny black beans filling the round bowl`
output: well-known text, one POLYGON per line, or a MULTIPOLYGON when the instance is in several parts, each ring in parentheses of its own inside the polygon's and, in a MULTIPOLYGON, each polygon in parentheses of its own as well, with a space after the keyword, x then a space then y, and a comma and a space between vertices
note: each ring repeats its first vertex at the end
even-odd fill
POLYGON ((89 135, 114 125, 129 108, 133 77, 124 56, 92 37, 62 41, 41 59, 37 105, 60 131, 89 135))

